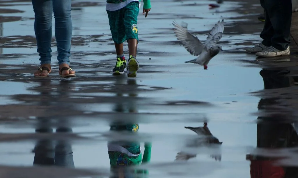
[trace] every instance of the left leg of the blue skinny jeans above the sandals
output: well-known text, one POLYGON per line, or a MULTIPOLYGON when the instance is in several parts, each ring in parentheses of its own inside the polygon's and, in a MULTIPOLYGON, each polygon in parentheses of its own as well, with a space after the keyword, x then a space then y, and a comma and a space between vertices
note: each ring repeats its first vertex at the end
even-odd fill
POLYGON ((49 0, 32 0, 35 14, 34 31, 41 64, 51 64, 53 4, 49 0))

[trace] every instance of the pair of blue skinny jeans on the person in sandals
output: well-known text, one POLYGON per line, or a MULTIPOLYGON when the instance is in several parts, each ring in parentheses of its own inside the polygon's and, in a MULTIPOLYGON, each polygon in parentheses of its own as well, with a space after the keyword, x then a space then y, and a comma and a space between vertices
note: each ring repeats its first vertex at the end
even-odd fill
POLYGON ((34 31, 41 64, 51 64, 52 14, 55 17, 55 37, 58 64, 69 64, 72 38, 71 0, 32 0, 35 13, 34 31))

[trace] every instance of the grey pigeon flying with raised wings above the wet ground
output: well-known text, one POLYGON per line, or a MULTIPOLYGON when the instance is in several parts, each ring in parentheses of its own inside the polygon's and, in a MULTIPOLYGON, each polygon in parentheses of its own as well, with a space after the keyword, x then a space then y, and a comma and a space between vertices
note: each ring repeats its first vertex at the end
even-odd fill
POLYGON ((216 45, 216 43, 221 39, 224 32, 224 19, 215 24, 204 44, 195 35, 187 31, 186 27, 181 27, 176 22, 173 22, 173 25, 176 27, 173 28, 174 33, 177 39, 182 42, 184 48, 186 48, 190 54, 198 56, 196 59, 186 61, 185 63, 192 62, 200 64, 204 66, 204 69, 207 69, 209 61, 216 56, 219 51, 223 51, 221 46, 216 45))

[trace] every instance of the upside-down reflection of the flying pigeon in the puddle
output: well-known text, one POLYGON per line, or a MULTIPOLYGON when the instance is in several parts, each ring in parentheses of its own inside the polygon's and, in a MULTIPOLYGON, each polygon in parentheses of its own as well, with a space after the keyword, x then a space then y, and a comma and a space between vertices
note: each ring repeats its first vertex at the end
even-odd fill
MULTIPOLYGON (((204 136, 203 138, 197 138, 191 143, 187 144, 188 147, 200 147, 200 146, 211 146, 212 144, 221 145, 223 142, 220 142, 218 138, 212 135, 207 123, 204 123, 204 127, 185 127, 186 129, 193 130, 199 136, 204 136)), ((215 160, 221 161, 221 155, 210 155, 215 160)), ((190 154, 186 152, 179 152, 176 155, 176 160, 189 160, 190 158, 196 157, 196 154, 190 154)))

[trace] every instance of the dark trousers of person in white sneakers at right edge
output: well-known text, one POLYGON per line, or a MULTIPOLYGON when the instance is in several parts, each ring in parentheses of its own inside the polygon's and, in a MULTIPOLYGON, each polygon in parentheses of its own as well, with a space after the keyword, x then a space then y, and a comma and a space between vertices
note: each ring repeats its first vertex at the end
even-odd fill
POLYGON ((266 11, 266 20, 260 37, 263 45, 285 50, 290 45, 292 20, 291 0, 260 0, 266 11))

